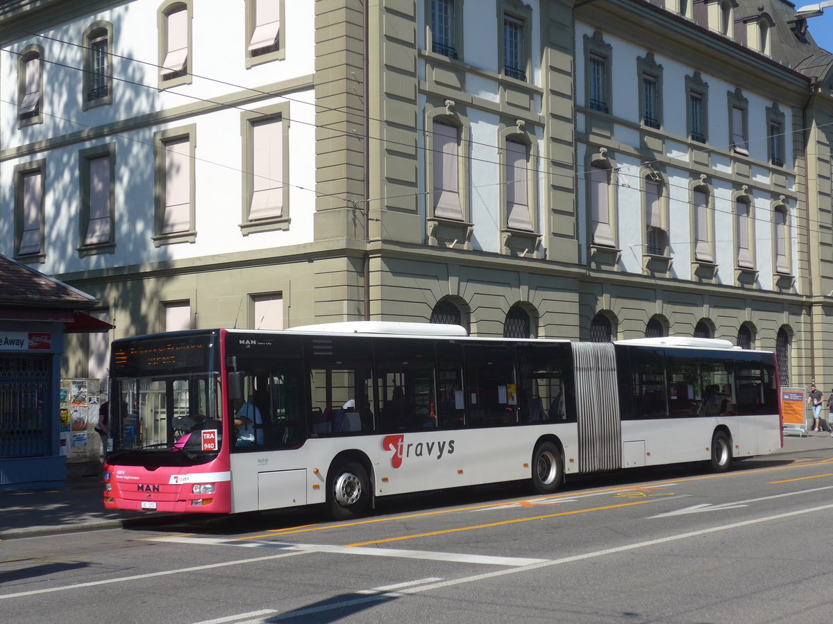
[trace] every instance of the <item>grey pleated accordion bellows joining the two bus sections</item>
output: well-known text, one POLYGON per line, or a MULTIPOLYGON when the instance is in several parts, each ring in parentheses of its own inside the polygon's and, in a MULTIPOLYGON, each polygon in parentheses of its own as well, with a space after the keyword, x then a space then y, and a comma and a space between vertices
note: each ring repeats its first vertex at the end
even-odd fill
POLYGON ((579 470, 621 468, 621 421, 612 343, 572 343, 579 470))

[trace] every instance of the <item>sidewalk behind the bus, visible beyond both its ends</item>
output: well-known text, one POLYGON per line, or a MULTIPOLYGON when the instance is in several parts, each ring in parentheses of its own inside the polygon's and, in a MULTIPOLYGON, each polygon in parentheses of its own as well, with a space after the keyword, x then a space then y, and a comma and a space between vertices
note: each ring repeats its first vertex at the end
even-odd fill
MULTIPOLYGON (((786 434, 781 453, 828 448, 833 448, 830 433, 786 434)), ((102 498, 100 475, 69 478, 66 487, 59 490, 0 492, 0 541, 100 528, 139 527, 185 515, 114 511, 104 508, 102 498)))

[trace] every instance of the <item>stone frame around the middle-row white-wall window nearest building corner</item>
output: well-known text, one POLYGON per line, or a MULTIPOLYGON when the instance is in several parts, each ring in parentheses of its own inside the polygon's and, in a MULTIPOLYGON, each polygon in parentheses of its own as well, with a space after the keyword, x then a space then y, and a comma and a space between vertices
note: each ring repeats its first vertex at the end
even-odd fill
POLYGON ((289 230, 291 206, 290 206, 290 184, 289 184, 289 159, 291 156, 289 146, 289 127, 291 116, 289 114, 290 103, 282 102, 272 104, 252 111, 244 111, 240 114, 240 135, 242 138, 242 198, 241 198, 241 221, 240 231, 247 236, 258 232, 275 230, 289 230), (262 121, 281 121, 282 134, 282 208, 281 215, 267 219, 249 220, 249 208, 252 203, 252 192, 254 184, 252 171, 254 171, 254 141, 252 126, 262 121))

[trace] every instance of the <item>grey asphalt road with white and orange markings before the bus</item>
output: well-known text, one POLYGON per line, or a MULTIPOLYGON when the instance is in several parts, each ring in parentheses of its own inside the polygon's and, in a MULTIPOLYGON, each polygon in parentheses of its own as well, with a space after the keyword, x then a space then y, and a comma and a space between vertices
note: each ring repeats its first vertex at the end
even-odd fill
POLYGON ((0 543, 4 622, 830 622, 833 449, 0 543))

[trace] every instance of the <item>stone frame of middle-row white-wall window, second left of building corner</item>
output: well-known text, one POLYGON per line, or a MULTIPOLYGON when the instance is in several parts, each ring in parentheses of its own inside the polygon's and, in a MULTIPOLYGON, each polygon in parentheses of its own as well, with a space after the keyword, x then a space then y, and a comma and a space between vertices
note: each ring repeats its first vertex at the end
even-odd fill
POLYGON ((157 131, 153 134, 153 244, 157 247, 162 245, 173 245, 176 243, 193 243, 197 240, 197 124, 177 126, 167 130, 157 131), (178 139, 187 138, 188 151, 191 157, 191 176, 189 193, 189 218, 191 227, 186 231, 162 233, 162 224, 165 221, 165 208, 167 206, 167 192, 165 181, 167 179, 167 144, 178 139))

